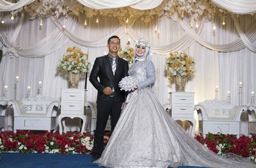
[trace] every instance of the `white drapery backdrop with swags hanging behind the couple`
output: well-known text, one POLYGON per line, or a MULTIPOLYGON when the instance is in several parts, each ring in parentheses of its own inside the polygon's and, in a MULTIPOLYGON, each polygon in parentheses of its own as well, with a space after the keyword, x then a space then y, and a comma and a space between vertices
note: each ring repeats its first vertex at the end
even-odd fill
MULTIPOLYGON (((0 45, 4 51, 0 93, 3 94, 3 86, 7 85, 8 98, 15 98, 15 76, 19 75, 19 99, 26 96, 27 86, 31 86, 31 95, 36 95, 38 81, 43 82, 44 96, 59 99, 61 89, 67 88, 67 78, 65 73, 57 72, 56 65, 65 49, 77 45, 88 52, 93 63, 96 57, 108 51, 106 43, 112 34, 120 36, 122 45, 129 38, 132 46, 139 37, 148 38, 153 51, 150 59, 157 74, 153 89, 162 104, 169 101, 168 93, 175 91, 165 72, 165 59, 173 50, 184 50, 195 58, 195 77, 186 85, 186 91, 195 92, 195 103, 214 98, 215 86, 219 86, 219 98, 226 99, 227 91, 230 91, 232 103, 238 104, 240 81, 243 82, 243 104, 250 101, 250 92, 256 91, 253 72, 256 20, 250 15, 235 20, 228 16, 225 26, 218 18, 215 23, 202 22, 195 31, 188 26, 188 20, 173 23, 164 17, 158 22, 160 34, 154 31, 156 20, 149 25, 134 20, 129 26, 122 26, 117 19, 108 17, 99 20, 99 24, 90 20, 84 27, 83 16, 60 20, 49 18, 44 19, 41 29, 38 27, 40 20, 29 20, 26 15, 14 22, 6 22, 0 27, 1 41, 8 47, 7 50, 0 45), (65 29, 61 27, 63 24, 65 29), (212 30, 213 24, 217 27, 215 31, 212 30)), ((97 91, 90 82, 87 86, 88 101, 95 102, 97 91)), ((84 88, 84 78, 79 82, 79 88, 84 88)))

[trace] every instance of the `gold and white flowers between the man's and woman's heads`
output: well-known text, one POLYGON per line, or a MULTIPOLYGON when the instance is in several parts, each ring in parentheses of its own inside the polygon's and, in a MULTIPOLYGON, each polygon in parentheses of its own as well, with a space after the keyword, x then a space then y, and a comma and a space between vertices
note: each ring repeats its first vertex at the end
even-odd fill
POLYGON ((129 67, 132 65, 134 60, 134 49, 130 47, 130 42, 126 43, 126 47, 120 47, 118 50, 118 56, 128 61, 129 67))

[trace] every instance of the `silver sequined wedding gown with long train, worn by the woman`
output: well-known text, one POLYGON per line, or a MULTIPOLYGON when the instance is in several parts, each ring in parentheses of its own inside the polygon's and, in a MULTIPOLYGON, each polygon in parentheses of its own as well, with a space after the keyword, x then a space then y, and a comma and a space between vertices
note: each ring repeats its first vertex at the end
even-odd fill
POLYGON ((238 162, 216 155, 164 111, 148 87, 155 81, 152 61, 135 63, 129 76, 136 80, 138 89, 131 94, 102 156, 95 163, 105 167, 256 167, 247 158, 238 162))

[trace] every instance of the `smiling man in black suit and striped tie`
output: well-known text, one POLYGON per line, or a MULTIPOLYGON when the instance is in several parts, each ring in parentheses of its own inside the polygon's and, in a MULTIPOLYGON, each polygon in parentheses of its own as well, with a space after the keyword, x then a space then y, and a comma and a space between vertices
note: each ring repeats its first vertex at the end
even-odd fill
POLYGON ((107 47, 108 54, 95 59, 89 78, 92 85, 98 90, 97 122, 92 161, 100 158, 104 150, 103 136, 109 114, 111 116, 111 132, 113 132, 120 117, 123 102, 125 102, 125 92, 118 88, 118 83, 128 75, 128 62, 117 55, 120 48, 120 38, 111 36, 108 39, 107 47))

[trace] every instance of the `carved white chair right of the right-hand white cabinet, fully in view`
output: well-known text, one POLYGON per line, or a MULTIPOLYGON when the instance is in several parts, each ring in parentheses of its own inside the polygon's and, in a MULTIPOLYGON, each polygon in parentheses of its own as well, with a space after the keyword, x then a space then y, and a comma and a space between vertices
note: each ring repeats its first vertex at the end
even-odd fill
POLYGON ((239 135, 242 112, 247 111, 246 106, 235 106, 225 100, 205 100, 195 105, 198 113, 199 132, 204 137, 212 134, 239 135))

